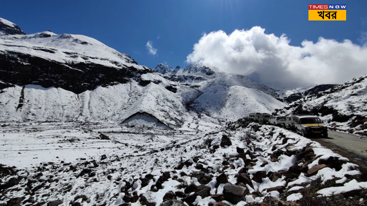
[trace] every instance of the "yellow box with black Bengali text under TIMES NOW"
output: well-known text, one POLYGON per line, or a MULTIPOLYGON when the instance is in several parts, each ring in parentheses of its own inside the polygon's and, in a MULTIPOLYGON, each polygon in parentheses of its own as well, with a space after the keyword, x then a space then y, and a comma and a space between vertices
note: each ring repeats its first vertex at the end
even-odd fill
POLYGON ((346 10, 308 10, 308 21, 346 21, 346 10))

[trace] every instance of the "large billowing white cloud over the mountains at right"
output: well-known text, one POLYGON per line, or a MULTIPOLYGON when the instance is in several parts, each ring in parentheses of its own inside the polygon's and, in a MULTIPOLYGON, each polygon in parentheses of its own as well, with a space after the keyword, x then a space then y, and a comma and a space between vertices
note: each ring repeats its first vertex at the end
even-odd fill
POLYGON ((203 63, 236 74, 256 72, 262 82, 290 86, 290 82, 343 83, 367 73, 367 47, 350 40, 339 43, 320 37, 290 45, 283 34, 265 34, 255 26, 227 35, 219 30, 203 34, 187 56, 189 63, 203 63))

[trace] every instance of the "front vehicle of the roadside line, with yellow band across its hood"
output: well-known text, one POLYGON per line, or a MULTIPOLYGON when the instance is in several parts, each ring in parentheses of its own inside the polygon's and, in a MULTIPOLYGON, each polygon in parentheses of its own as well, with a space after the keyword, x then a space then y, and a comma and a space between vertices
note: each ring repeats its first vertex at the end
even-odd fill
POLYGON ((310 135, 323 135, 327 137, 327 127, 315 115, 294 115, 294 126, 297 133, 307 137, 310 135))

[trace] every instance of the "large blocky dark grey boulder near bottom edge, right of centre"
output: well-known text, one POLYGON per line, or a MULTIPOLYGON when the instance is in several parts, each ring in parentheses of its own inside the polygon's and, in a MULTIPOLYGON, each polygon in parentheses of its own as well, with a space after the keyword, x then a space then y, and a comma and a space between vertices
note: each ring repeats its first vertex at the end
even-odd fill
POLYGON ((247 188, 237 185, 226 184, 223 187, 224 199, 232 204, 237 204, 240 201, 246 201, 246 195, 249 194, 247 188))

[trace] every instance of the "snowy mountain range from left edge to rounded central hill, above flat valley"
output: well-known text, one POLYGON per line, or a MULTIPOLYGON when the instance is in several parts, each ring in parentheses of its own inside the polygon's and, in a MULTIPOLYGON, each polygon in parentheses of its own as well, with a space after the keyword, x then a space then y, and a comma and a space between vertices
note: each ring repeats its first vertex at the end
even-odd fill
POLYGON ((0 67, 1 122, 180 128, 199 117, 218 124, 285 106, 274 99, 275 90, 250 78, 204 65, 181 69, 159 64, 151 70, 83 35, 1 36, 0 67))

